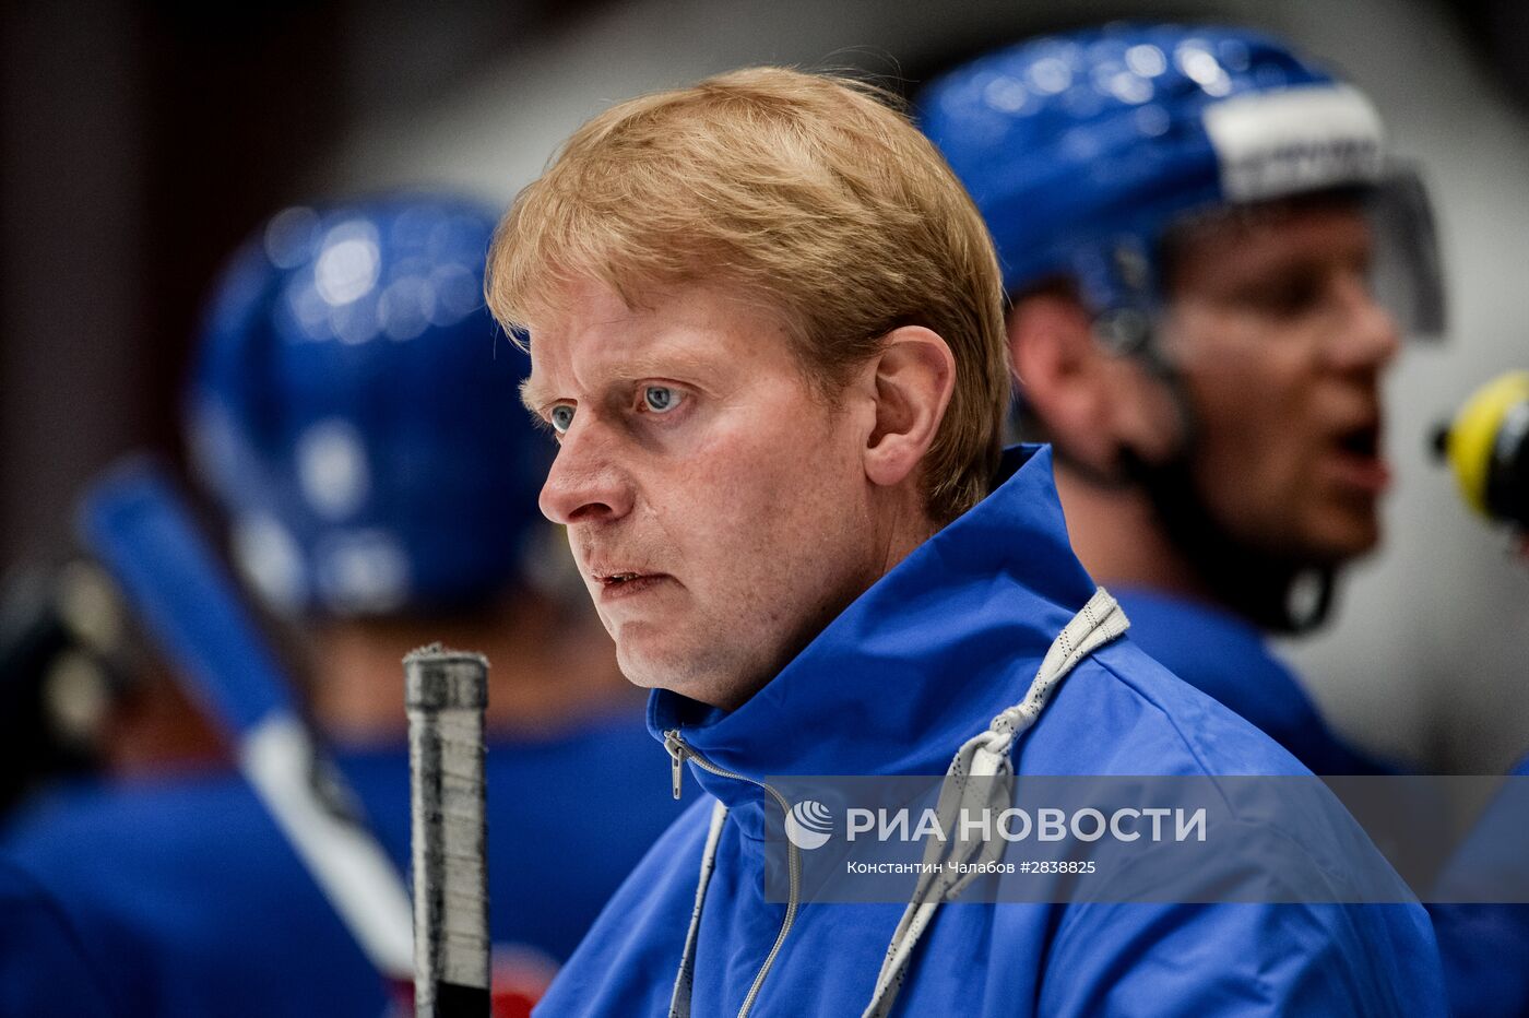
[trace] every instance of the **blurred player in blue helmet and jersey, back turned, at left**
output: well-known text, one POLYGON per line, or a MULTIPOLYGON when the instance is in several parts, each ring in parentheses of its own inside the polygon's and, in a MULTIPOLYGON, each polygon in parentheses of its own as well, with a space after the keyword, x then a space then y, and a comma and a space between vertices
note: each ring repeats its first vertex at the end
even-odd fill
MULTIPOLYGON (((434 196, 278 214, 217 286, 188 416, 239 570, 300 627, 312 718, 401 871, 399 660, 442 640, 492 662, 495 989, 529 1001, 671 812, 667 760, 537 514, 550 442, 483 309, 492 228, 434 196)), ((388 1006, 235 775, 55 795, 8 844, 125 1013, 388 1006)))

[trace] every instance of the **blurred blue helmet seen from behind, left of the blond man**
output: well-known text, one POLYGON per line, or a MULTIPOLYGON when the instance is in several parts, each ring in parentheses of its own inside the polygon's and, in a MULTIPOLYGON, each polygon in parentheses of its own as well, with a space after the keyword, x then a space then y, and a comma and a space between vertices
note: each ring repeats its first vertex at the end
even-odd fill
POLYGON ((217 283, 191 459, 272 608, 440 610, 518 575, 550 443, 483 303, 494 226, 436 196, 289 208, 217 283))

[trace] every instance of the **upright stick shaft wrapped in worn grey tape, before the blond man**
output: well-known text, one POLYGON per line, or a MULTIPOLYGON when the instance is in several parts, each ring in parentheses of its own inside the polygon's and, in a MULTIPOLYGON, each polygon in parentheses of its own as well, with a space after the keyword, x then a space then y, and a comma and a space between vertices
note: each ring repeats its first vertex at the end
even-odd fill
POLYGON ((414 861, 414 1013, 489 1013, 482 654, 404 659, 414 861))

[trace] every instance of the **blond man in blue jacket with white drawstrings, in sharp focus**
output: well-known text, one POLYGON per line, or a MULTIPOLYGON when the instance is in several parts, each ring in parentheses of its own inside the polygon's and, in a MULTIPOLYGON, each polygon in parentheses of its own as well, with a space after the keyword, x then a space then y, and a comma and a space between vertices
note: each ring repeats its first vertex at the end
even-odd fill
POLYGON ((560 443, 541 509, 700 786, 541 1013, 1437 1010, 1408 906, 807 900, 821 842, 772 836, 771 775, 1300 772, 1122 639, 1049 452, 1000 449, 992 248, 878 93, 754 69, 621 104, 489 272, 560 443))

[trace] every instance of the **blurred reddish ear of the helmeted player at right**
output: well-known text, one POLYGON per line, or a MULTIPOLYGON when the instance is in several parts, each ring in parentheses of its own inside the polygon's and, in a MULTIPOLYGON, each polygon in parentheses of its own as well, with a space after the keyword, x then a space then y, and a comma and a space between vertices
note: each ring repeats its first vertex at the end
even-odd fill
POLYGON ((1105 353, 1075 298, 1041 292, 1009 312, 1009 355, 1020 394, 1070 457, 1112 474, 1122 446, 1156 449, 1164 393, 1130 358, 1105 353))

